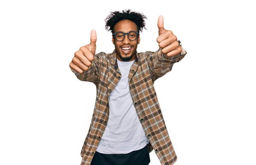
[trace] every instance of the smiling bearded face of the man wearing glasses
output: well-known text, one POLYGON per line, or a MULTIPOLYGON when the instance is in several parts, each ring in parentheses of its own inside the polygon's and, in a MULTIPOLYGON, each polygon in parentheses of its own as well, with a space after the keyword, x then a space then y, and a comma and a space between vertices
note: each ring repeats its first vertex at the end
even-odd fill
MULTIPOLYGON (((114 32, 128 33, 131 31, 137 32, 137 26, 131 20, 121 20, 114 26, 114 32)), ((127 35, 125 35, 123 41, 117 41, 114 36, 112 36, 112 42, 115 44, 116 58, 119 61, 135 60, 137 45, 140 43, 140 35, 138 35, 137 39, 134 41, 131 41, 127 35), (126 51, 124 49, 126 49, 126 51)))

